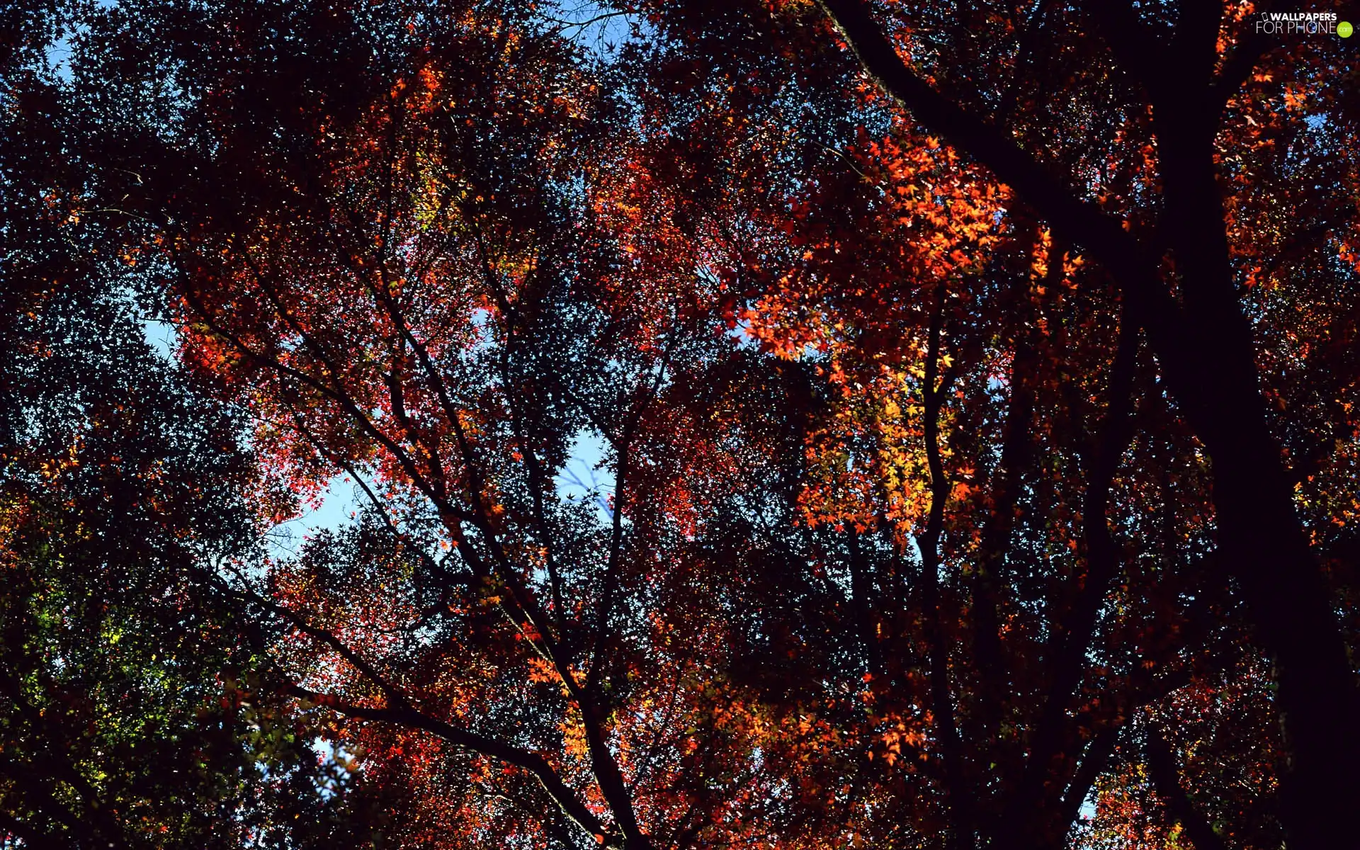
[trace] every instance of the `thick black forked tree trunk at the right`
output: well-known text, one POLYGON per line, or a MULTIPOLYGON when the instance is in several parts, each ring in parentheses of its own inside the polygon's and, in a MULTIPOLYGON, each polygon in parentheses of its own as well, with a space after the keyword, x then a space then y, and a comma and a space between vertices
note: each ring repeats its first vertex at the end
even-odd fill
MULTIPOLYGON (((1219 4, 1183 4, 1166 39, 1132 5, 1073 10, 1107 42, 1114 69, 1136 87, 1133 105, 1146 105, 1153 116, 1160 208, 1153 233, 1140 241, 1132 227, 1121 226, 1132 224, 1132 216, 1110 215, 1073 192, 1070 180, 1054 180, 1040 159, 1006 137, 1002 125, 989 126, 925 83, 868 4, 836 1, 826 8, 888 92, 926 126, 994 169, 1119 282, 1176 401, 1213 460, 1219 545, 1247 593, 1258 636, 1270 649, 1281 683, 1281 714, 1293 758, 1287 819, 1296 840, 1322 846, 1333 827, 1319 831, 1314 806, 1319 801, 1341 806, 1356 794, 1338 779, 1349 775, 1345 766, 1357 753, 1356 734, 1344 721, 1356 703, 1353 672, 1316 554, 1292 505, 1280 441, 1270 432, 1257 348, 1236 291, 1238 276, 1250 267, 1242 264, 1246 268, 1239 271, 1234 262, 1214 160, 1216 152, 1231 156, 1258 139, 1232 128, 1239 132, 1229 129, 1227 144, 1216 151, 1224 112, 1236 106, 1243 121, 1250 117, 1240 90, 1273 45, 1243 26, 1243 14, 1225 15, 1219 4), (1174 265, 1163 273, 1168 257, 1174 265)), ((1326 53, 1336 49, 1321 44, 1326 45, 1319 50, 1323 56, 1308 57, 1314 68, 1329 67, 1326 53)), ((1300 82, 1306 75, 1299 75, 1300 82)))

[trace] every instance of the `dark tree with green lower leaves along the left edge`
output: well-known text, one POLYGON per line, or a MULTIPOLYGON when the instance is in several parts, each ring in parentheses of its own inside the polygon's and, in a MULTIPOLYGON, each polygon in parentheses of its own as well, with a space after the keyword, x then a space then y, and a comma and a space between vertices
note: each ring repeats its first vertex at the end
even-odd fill
POLYGON ((34 53, 0 91, 0 843, 371 838, 362 783, 272 696, 268 635, 216 575, 257 560, 239 424, 146 341, 34 53))

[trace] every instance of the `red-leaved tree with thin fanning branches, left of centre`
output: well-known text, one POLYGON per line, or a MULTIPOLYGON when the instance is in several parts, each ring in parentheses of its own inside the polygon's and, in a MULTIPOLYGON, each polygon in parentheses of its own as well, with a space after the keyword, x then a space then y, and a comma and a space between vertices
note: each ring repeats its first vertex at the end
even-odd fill
POLYGON ((513 4, 162 12, 90 39, 147 61, 117 52, 125 27, 165 33, 194 75, 146 110, 193 116, 169 140, 106 143, 154 151, 117 167, 146 185, 184 356, 252 411, 282 479, 343 473, 371 502, 248 590, 294 632, 290 692, 370 721, 379 763, 462 771, 475 801, 458 782, 428 815, 468 816, 454 840, 645 847, 762 805, 709 793, 764 772, 760 724, 706 673, 721 643, 669 635, 649 600, 709 495, 668 481, 718 452, 660 400, 726 344, 605 230, 628 215, 600 188, 624 106, 513 4), (602 515, 555 484, 582 434, 607 446, 602 515))

